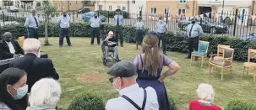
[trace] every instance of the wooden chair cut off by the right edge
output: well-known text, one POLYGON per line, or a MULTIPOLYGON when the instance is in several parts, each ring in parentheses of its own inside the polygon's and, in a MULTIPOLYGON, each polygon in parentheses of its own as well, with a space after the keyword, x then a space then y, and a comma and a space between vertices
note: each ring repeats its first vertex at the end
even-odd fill
POLYGON ((243 73, 242 73, 242 76, 243 76, 244 71, 247 69, 247 75, 248 75, 249 68, 252 68, 254 71, 254 75, 253 75, 254 81, 256 81, 256 63, 250 62, 250 60, 255 59, 255 58, 256 58, 256 50, 249 49, 248 50, 248 62, 243 63, 243 73))

